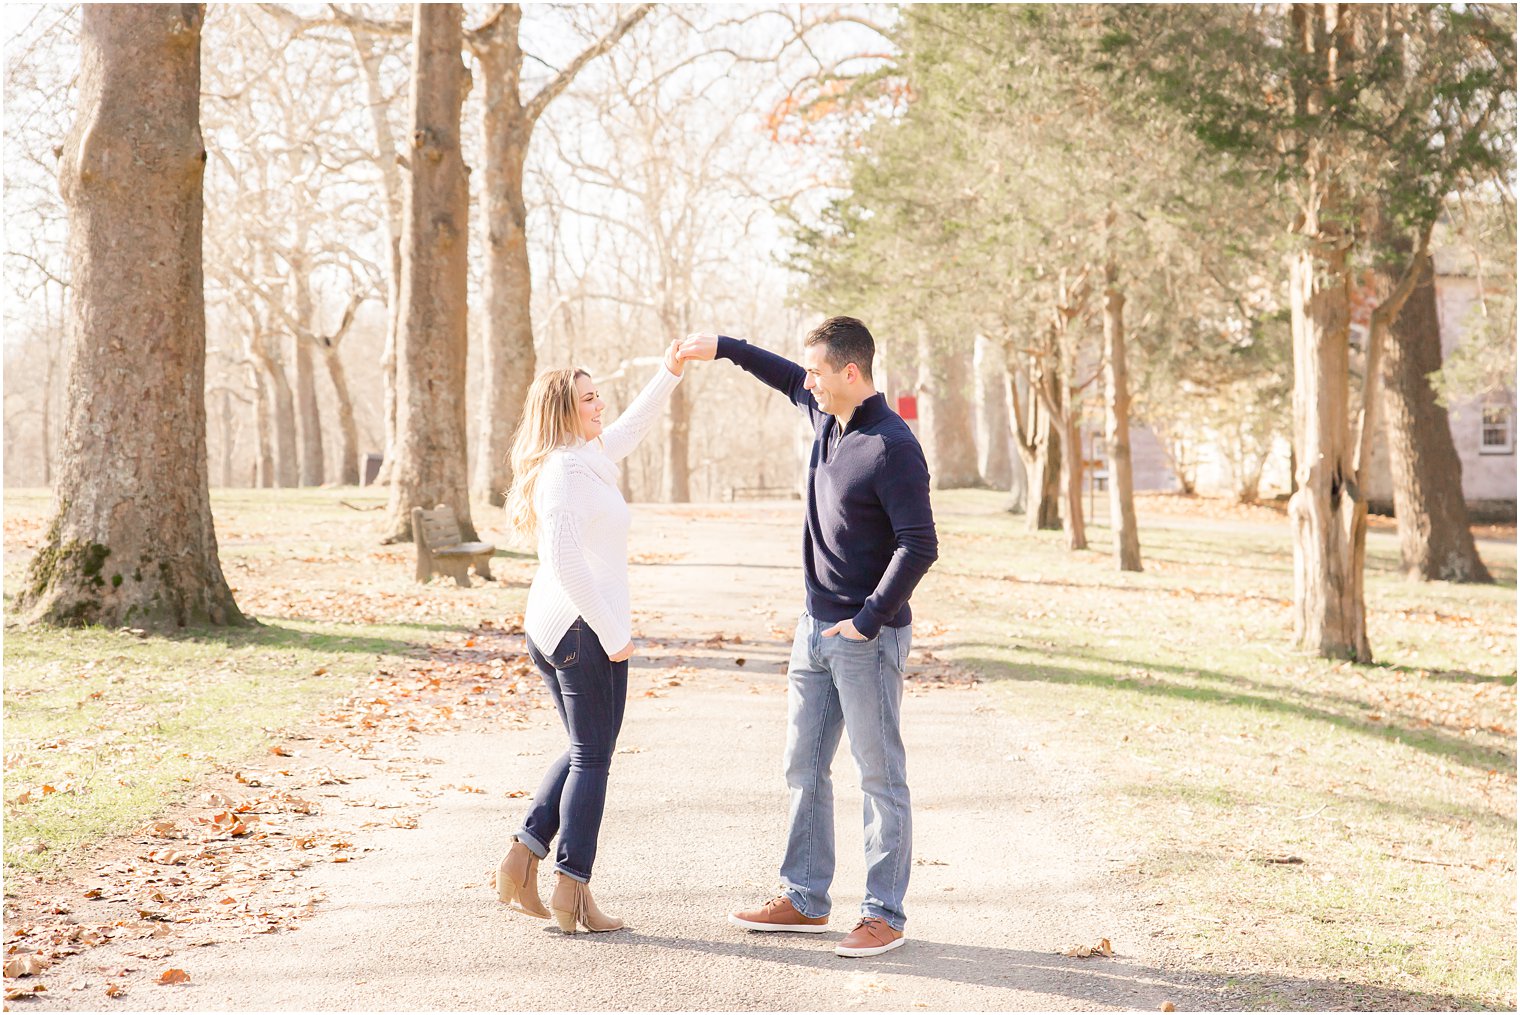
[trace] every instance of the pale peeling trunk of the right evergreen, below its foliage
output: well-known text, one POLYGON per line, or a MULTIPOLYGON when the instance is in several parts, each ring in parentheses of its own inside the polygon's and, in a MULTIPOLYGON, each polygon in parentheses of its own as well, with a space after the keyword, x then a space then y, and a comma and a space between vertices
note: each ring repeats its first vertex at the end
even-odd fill
POLYGON ((1289 264, 1294 333, 1294 637, 1333 659, 1368 662, 1362 564, 1366 501, 1348 425, 1351 284, 1347 251, 1316 243, 1289 264))

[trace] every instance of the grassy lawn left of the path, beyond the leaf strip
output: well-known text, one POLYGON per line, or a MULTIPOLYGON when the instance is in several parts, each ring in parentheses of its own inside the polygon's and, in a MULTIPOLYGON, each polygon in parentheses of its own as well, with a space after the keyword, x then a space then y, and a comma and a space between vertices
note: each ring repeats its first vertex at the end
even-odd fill
MULTIPOLYGON (((444 632, 521 609, 526 564, 500 585, 412 580, 412 549, 378 544, 383 497, 360 489, 213 494, 220 558, 260 626, 170 638, 106 629, 5 635, 5 865, 58 869, 140 827, 207 772, 342 700, 375 667, 444 632), (50 787, 50 789, 49 789, 50 787)), ((49 497, 6 491, 9 611, 49 497)), ((477 518, 500 512, 477 509, 477 518)), ((482 526, 486 527, 486 526, 482 526)), ((492 538, 486 527, 483 538, 492 538)))

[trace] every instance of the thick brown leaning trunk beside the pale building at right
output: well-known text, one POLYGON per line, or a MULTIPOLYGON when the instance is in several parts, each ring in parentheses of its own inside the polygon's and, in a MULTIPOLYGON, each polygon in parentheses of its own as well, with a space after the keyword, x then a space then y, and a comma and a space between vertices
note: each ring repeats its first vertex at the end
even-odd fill
MULTIPOLYGON (((1429 254, 1420 270, 1421 283, 1394 321, 1383 372, 1398 549, 1404 573, 1421 582, 1490 582, 1467 518, 1462 460, 1429 380, 1441 369, 1441 319, 1429 254)), ((1389 289, 1394 281, 1383 277, 1389 289)))

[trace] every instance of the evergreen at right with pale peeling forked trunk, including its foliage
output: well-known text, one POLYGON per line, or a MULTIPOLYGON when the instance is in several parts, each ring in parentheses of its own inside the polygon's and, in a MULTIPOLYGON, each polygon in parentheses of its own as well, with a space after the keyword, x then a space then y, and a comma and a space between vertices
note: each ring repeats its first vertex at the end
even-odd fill
POLYGON ((1514 8, 1166 5, 1110 17, 1108 50, 1138 70, 1132 81, 1290 193, 1295 640, 1371 661, 1362 491, 1383 349, 1446 194, 1512 172, 1514 8), (1389 266, 1353 398, 1351 292, 1379 228, 1409 254, 1389 266))

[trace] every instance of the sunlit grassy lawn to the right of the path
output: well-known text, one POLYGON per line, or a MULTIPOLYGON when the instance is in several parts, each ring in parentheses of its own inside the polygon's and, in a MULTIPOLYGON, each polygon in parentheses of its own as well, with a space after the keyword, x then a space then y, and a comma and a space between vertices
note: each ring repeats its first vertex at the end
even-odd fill
MULTIPOLYGON (((936 495, 920 609, 1052 743, 1102 773, 1152 934, 1205 968, 1515 1003, 1515 547, 1499 582, 1415 583, 1371 533, 1374 666, 1290 644, 1287 526, 1146 512, 1069 553, 985 492, 936 495)), ((1363 998, 1368 1007, 1376 997, 1363 998)), ((1251 1001, 1246 1001, 1251 1003, 1251 1001)), ((1313 1006, 1262 991, 1260 1007, 1313 1006)))

